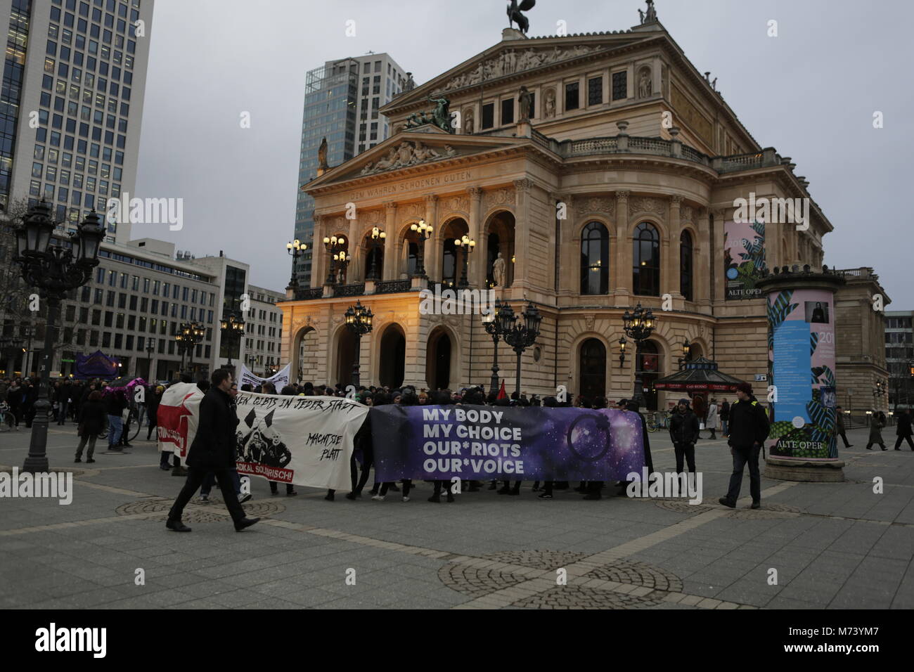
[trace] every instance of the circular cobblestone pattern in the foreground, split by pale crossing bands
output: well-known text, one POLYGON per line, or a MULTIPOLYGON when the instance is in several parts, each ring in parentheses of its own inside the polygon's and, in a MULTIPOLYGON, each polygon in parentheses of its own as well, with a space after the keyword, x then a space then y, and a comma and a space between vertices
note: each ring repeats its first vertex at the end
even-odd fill
MULTIPOLYGON (((555 550, 505 550, 482 556, 484 560, 504 562, 519 567, 555 571, 579 560, 590 557, 590 553, 575 553, 555 550)), ((510 569, 477 568, 463 563, 449 563, 438 571, 438 578, 454 591, 471 597, 482 597, 504 588, 527 581, 529 577, 515 574, 510 569)), ((590 571, 585 579, 618 581, 643 586, 657 591, 682 591, 682 581, 667 571, 657 569, 643 562, 618 560, 611 565, 590 571)), ((601 588, 584 588, 570 584, 555 586, 547 591, 531 595, 513 603, 512 606, 531 609, 641 609, 661 603, 654 594, 639 597, 601 588)))

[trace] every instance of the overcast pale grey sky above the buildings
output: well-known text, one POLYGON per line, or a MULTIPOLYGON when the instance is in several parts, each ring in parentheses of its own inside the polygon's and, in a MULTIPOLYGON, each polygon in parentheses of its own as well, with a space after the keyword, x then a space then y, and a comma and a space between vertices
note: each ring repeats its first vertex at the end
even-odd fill
MULTIPOLYGON (((282 291, 291 260, 308 69, 388 52, 423 83, 501 39, 504 0, 156 0, 137 194, 183 197, 184 229, 133 237, 220 250, 250 282, 282 291), (356 36, 346 37, 355 20, 356 36), (250 112, 250 128, 240 115, 250 112)), ((914 309, 906 231, 914 136, 910 26, 895 0, 656 0, 664 27, 762 146, 792 156, 834 232, 825 263, 873 266, 893 304, 914 309), (778 37, 768 22, 778 21, 778 37), (873 128, 873 113, 885 127, 873 128), (907 177, 906 177, 907 176, 907 177), (907 280, 906 280, 907 278, 907 280)), ((629 28, 637 0, 539 0, 531 37, 629 28)))

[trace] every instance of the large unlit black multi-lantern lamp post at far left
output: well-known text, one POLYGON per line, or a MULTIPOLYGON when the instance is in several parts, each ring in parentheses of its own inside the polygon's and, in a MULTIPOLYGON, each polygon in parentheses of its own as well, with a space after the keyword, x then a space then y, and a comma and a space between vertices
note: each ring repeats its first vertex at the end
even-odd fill
POLYGON ((50 218, 51 208, 42 199, 28 209, 28 214, 16 229, 16 256, 23 280, 38 290, 38 295, 48 302, 48 324, 45 327, 45 344, 41 356, 38 398, 35 402, 35 420, 28 446, 24 472, 47 472, 48 401, 50 364, 57 337, 57 319, 60 301, 66 294, 89 282, 92 269, 98 265, 99 247, 104 237, 101 217, 93 209, 80 223, 79 231, 63 239, 70 246, 52 242, 55 223, 50 218))

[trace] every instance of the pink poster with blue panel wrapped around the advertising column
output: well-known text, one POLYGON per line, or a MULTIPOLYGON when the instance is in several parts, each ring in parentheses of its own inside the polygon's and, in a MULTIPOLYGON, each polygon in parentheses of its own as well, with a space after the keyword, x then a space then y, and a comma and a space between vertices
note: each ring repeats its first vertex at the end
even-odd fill
POLYGON ((777 457, 837 457, 834 410, 834 298, 824 290, 772 293, 768 300, 777 457))

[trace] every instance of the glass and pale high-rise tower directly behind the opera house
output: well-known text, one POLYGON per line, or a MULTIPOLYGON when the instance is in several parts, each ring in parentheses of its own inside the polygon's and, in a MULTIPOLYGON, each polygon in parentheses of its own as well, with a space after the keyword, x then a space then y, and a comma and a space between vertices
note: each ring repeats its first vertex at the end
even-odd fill
MULTIPOLYGON (((317 150, 324 138, 329 165, 340 165, 386 140, 390 134, 388 120, 378 109, 407 89, 409 81, 409 73, 388 54, 328 60, 322 67, 309 70, 304 87, 299 187, 317 176, 317 150)), ((299 284, 307 287, 314 250, 314 198, 301 190, 296 198, 295 238, 308 244, 296 272, 299 284)))

